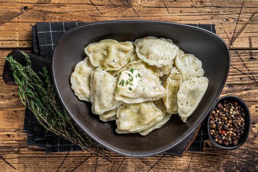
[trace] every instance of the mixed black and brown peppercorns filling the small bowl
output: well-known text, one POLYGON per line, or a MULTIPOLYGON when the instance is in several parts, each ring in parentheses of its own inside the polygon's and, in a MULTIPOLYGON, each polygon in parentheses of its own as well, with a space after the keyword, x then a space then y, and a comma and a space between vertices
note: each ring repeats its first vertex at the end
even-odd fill
POLYGON ((235 101, 217 104, 209 120, 209 132, 216 143, 236 145, 245 130, 244 109, 235 101))

